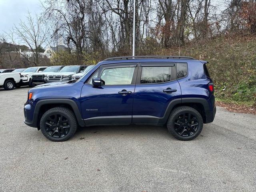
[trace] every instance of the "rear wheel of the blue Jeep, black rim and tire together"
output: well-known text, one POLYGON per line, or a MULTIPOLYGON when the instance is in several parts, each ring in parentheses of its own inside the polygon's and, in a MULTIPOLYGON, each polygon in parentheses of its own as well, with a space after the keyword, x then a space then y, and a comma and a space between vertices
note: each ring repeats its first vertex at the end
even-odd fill
POLYGON ((188 106, 180 106, 171 112, 167 128, 175 138, 188 141, 200 134, 203 124, 203 118, 197 110, 188 106))

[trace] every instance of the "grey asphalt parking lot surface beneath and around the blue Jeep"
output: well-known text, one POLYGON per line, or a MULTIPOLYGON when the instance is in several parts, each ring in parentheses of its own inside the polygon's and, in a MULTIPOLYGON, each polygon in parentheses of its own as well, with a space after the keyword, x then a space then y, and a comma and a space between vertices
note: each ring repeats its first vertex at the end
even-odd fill
POLYGON ((217 108, 188 142, 165 127, 80 128, 51 142, 23 123, 28 88, 0 88, 0 191, 256 191, 256 116, 217 108))

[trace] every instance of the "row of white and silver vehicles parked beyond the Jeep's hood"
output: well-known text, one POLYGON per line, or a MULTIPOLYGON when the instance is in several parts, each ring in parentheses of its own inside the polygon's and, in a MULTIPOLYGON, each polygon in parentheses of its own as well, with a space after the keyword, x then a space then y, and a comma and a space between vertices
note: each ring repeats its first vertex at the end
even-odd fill
POLYGON ((78 80, 94 65, 40 66, 22 69, 0 70, 0 87, 13 90, 20 86, 33 87, 38 84, 78 80))

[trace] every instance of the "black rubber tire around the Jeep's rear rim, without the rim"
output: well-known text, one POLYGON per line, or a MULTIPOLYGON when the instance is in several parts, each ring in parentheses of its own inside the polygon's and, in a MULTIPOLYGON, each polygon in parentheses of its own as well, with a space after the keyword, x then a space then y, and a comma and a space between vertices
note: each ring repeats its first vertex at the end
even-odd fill
POLYGON ((200 115, 199 112, 195 112, 194 110, 190 110, 190 109, 184 109, 184 110, 180 110, 178 111, 176 114, 174 114, 172 116, 172 119, 170 120, 170 123, 169 123, 169 126, 168 126, 168 130, 170 132, 172 132, 172 134, 178 138, 181 138, 182 140, 192 140, 193 138, 196 138, 198 136, 198 134, 200 134, 200 132, 202 131, 202 128, 203 128, 203 125, 204 125, 204 122, 203 122, 203 119, 202 119, 202 116, 200 115), (190 113, 192 114, 193 116, 195 116, 197 119, 198 119, 198 129, 196 130, 196 132, 191 135, 191 136, 181 136, 179 135, 176 131, 175 131, 175 128, 174 128, 174 121, 176 120, 176 118, 182 114, 182 113, 190 113))

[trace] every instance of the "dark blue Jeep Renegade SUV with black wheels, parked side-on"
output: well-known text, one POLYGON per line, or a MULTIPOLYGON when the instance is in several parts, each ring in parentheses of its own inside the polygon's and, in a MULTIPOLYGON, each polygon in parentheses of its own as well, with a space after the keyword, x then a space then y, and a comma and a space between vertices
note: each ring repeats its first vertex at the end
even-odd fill
POLYGON ((184 56, 108 58, 78 81, 28 91, 25 124, 52 141, 68 140, 79 126, 166 125, 192 140, 214 120, 214 86, 206 61, 184 56))

